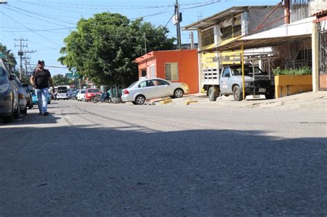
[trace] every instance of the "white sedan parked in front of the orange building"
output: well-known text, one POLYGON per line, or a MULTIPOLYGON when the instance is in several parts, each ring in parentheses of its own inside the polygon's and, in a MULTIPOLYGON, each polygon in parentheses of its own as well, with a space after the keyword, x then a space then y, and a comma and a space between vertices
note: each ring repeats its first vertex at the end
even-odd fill
POLYGON ((189 92, 186 83, 173 83, 164 79, 141 79, 132 83, 123 90, 121 100, 132 102, 135 105, 143 105, 147 99, 155 99, 165 96, 179 98, 189 92))

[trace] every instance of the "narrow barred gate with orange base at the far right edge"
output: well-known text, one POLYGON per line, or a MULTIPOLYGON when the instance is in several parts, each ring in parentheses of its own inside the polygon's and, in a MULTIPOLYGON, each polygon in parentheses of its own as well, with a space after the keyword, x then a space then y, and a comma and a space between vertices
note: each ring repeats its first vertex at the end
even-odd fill
POLYGON ((319 90, 327 90, 327 30, 319 34, 319 90))

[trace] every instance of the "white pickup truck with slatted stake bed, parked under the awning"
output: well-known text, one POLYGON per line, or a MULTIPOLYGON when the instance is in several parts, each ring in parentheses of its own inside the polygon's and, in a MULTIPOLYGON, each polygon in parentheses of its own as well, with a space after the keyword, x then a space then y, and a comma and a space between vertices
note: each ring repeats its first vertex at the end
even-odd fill
MULTIPOLYGON (((266 99, 275 96, 275 82, 273 73, 262 72, 259 67, 250 64, 244 65, 244 87, 246 95, 264 94, 266 99), (253 73, 254 72, 254 73, 253 73)), ((236 101, 243 100, 242 67, 224 65, 219 70, 204 72, 204 89, 210 101, 216 101, 219 95, 233 95, 236 101)))

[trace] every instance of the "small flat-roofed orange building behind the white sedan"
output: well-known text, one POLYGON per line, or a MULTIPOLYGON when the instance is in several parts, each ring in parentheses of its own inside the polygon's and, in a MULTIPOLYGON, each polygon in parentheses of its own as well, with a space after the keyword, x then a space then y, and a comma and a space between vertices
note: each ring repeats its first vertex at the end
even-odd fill
POLYGON ((152 51, 135 62, 139 64, 139 77, 186 83, 190 94, 199 92, 197 50, 152 51))

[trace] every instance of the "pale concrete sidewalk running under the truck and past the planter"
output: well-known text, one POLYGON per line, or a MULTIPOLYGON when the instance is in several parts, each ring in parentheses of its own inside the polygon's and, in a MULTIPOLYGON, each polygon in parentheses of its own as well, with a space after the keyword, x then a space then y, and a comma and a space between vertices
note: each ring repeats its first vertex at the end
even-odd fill
MULTIPOLYGON (((253 98, 247 96, 244 101, 235 101, 232 96, 219 96, 217 101, 210 102, 206 94, 193 94, 181 99, 172 99, 172 103, 166 105, 186 105, 187 101, 197 101, 190 106, 217 106, 217 107, 239 107, 239 108, 278 108, 286 110, 326 110, 327 92, 305 92, 279 99, 253 98)), ((159 103, 156 103, 159 105, 159 103)))

